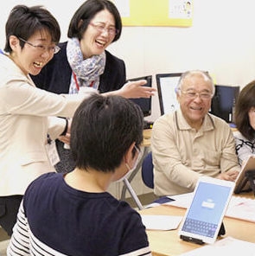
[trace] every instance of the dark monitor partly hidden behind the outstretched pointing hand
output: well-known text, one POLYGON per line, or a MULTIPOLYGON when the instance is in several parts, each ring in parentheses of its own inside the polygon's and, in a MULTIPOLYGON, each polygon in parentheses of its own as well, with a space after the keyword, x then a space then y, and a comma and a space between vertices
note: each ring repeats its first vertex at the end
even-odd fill
MULTIPOLYGON (((147 83, 144 86, 152 85, 152 75, 146 75, 142 77, 132 78, 129 81, 136 81, 136 80, 147 80, 147 83)), ((148 117, 151 114, 151 97, 150 98, 138 98, 138 99, 131 99, 135 102, 138 106, 140 106, 143 117, 148 117)))

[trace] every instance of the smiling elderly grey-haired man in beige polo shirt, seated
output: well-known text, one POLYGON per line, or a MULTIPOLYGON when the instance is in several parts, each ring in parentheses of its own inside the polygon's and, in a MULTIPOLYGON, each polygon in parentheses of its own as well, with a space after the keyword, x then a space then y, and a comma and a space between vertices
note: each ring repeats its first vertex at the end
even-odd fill
POLYGON ((207 72, 183 73, 176 87, 180 110, 158 118, 151 150, 156 195, 192 192, 200 176, 235 181, 239 173, 233 132, 208 113, 214 82, 207 72))

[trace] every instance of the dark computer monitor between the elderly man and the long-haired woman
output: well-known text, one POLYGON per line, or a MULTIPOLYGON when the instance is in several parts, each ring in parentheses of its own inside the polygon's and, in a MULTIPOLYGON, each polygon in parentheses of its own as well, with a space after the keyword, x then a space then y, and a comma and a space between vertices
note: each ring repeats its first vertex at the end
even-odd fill
POLYGON ((215 85, 210 112, 226 123, 234 123, 233 106, 237 102, 239 90, 239 86, 215 85))

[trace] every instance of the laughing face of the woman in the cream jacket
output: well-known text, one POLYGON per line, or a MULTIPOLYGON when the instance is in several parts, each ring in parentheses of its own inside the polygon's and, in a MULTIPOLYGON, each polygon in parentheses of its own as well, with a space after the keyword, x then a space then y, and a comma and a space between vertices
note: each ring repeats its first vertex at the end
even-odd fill
POLYGON ((52 49, 55 44, 52 42, 51 36, 47 30, 38 31, 29 37, 23 48, 20 46, 21 41, 15 35, 10 36, 10 47, 12 48, 10 58, 22 69, 24 74, 39 74, 41 68, 54 56, 52 49), (38 46, 45 46, 46 49, 43 50, 38 46))

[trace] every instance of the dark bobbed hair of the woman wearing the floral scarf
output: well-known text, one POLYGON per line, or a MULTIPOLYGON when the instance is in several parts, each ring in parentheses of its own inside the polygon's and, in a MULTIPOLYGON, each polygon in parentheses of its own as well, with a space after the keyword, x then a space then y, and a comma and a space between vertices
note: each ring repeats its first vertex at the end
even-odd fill
POLYGON ((77 37, 80 40, 89 22, 101 10, 108 10, 112 13, 115 20, 115 28, 118 30, 112 42, 117 41, 122 31, 121 17, 117 7, 108 0, 87 0, 85 3, 82 3, 71 19, 67 36, 69 38, 77 37), (82 21, 81 24, 80 21, 82 21))

